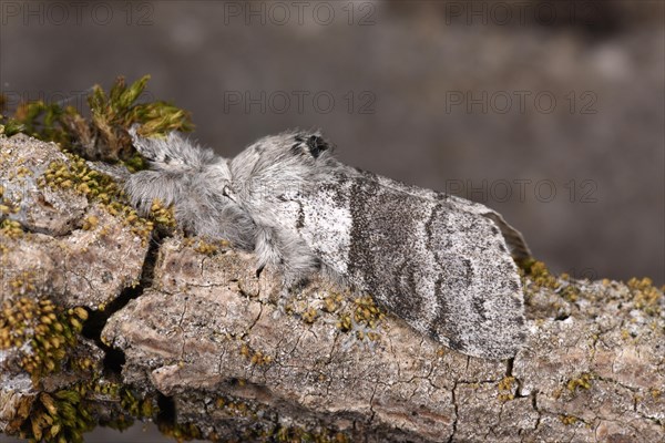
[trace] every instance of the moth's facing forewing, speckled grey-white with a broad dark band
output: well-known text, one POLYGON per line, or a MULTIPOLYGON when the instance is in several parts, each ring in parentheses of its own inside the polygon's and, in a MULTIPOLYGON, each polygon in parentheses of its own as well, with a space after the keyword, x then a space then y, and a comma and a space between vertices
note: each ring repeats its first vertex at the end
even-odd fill
POLYGON ((299 215, 299 234, 326 266, 450 348, 493 359, 516 353, 523 341, 521 284, 490 219, 374 177, 336 177, 299 202, 316 208, 299 215), (347 238, 331 231, 339 228, 335 219, 351 220, 350 229, 341 229, 347 238))

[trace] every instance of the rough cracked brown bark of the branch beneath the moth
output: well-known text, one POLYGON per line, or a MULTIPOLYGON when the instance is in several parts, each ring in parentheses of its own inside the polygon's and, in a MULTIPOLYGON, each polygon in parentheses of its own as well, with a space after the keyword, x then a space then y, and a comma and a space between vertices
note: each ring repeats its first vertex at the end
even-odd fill
POLYGON ((3 217, 24 230, 0 234, 0 324, 20 299, 53 300, 58 321, 88 310, 52 370, 27 371, 35 341, 0 348, 0 431, 76 436, 141 418, 222 441, 665 441, 665 299, 647 281, 536 266, 526 344, 487 361, 331 281, 287 296, 249 255, 178 235, 146 243, 79 187, 40 185, 50 163, 72 162, 52 144, 0 137, 0 155, 3 217), (64 402, 92 415, 65 429, 64 402))

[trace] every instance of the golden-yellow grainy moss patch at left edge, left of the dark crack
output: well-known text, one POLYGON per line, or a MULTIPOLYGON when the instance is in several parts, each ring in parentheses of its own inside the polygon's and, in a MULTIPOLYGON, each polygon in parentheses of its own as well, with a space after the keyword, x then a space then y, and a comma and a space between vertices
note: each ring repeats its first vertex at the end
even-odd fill
POLYGON ((64 311, 49 299, 6 300, 0 311, 0 349, 18 350, 19 365, 38 383, 45 374, 60 370, 86 318, 85 309, 64 311))

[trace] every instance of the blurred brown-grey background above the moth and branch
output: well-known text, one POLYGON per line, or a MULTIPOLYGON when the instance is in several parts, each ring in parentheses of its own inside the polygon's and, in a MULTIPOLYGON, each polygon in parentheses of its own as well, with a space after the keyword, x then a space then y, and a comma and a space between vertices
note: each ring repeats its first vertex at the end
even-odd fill
POLYGON ((662 1, 0 7, 10 104, 150 73, 221 154, 321 128, 350 165, 495 208, 555 271, 665 282, 662 1))

